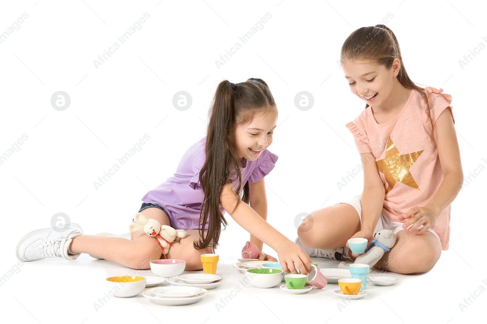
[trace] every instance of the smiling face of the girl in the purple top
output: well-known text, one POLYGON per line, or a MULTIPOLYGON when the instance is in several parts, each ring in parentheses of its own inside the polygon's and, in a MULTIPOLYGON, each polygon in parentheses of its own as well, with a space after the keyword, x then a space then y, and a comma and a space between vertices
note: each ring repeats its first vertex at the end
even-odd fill
POLYGON ((254 161, 262 151, 272 144, 272 133, 276 128, 277 116, 270 111, 265 116, 258 115, 246 125, 235 129, 235 147, 239 157, 254 161))

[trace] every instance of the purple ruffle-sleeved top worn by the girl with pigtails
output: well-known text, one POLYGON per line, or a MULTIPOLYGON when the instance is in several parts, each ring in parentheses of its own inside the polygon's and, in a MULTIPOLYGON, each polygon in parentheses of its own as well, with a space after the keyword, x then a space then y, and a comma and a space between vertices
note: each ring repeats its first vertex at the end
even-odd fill
MULTIPOLYGON (((175 229, 198 229, 201 205, 204 200, 200 186, 200 170, 205 163, 206 137, 193 144, 183 155, 174 176, 166 182, 150 190, 142 197, 144 203, 163 206, 168 210, 171 226, 175 229)), ((248 181, 258 182, 274 169, 278 159, 276 154, 264 150, 258 159, 249 161, 244 159, 240 171, 242 186, 248 181)), ((238 181, 233 182, 237 189, 238 181)), ((220 206, 222 213, 225 212, 220 206)), ((205 230, 208 229, 208 222, 205 230)))

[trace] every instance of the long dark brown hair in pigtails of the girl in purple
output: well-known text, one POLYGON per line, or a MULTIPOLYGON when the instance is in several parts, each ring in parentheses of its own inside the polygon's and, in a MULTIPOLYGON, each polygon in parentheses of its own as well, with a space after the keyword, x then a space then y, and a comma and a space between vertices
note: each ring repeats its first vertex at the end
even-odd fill
POLYGON ((263 80, 250 78, 234 87, 225 80, 217 86, 208 112, 206 158, 199 178, 204 201, 199 221, 200 240, 194 243, 196 249, 210 247, 214 250, 220 239, 222 224, 224 227, 228 224, 220 209, 220 195, 227 183, 238 180, 236 192, 239 203, 242 199, 248 204, 248 182, 242 186, 242 161, 232 138, 237 126, 251 122, 254 116, 269 112, 277 116, 276 103, 263 80), (205 236, 206 222, 208 231, 205 236))

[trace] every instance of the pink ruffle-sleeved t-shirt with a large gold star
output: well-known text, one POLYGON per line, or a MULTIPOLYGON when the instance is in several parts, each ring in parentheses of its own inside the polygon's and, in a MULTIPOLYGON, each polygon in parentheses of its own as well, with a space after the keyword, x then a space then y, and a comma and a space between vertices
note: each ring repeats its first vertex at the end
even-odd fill
MULTIPOLYGON (((451 96, 442 91, 425 88, 433 125, 446 108, 453 117, 451 96)), ((399 220, 399 215, 431 200, 443 181, 443 172, 427 108, 417 91, 411 90, 401 111, 386 123, 378 124, 369 106, 346 126, 354 135, 358 152, 372 152, 375 156, 386 189, 382 208, 384 216, 394 222, 405 222, 399 220)), ((450 210, 451 205, 431 228, 440 237, 442 250, 449 247, 450 210)))

